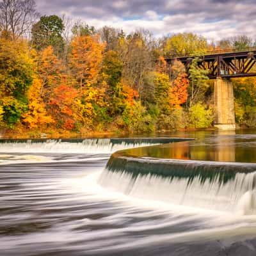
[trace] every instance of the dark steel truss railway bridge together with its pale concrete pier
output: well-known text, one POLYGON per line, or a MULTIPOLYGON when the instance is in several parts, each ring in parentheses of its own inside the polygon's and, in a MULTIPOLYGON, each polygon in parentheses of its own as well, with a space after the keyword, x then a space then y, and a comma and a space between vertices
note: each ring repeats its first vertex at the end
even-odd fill
MULTIPOLYGON (((208 70, 209 79, 214 79, 214 125, 219 129, 236 129, 234 113, 234 93, 232 78, 256 76, 256 47, 244 49, 225 49, 206 52, 202 56, 181 54, 169 56, 169 74, 175 60, 181 61, 189 73, 193 58, 199 57, 198 67, 208 70)), ((171 75, 171 74, 170 74, 171 75)))

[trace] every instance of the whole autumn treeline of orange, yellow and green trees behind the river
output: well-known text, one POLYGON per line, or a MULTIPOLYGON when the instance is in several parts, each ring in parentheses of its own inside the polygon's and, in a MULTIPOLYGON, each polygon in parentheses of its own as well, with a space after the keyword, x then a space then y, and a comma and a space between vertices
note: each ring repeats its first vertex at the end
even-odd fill
MULTIPOLYGON (((127 35, 56 15, 39 18, 33 0, 2 1, 0 33, 0 127, 29 136, 209 127, 207 72, 195 58, 189 77, 176 62, 169 78, 164 56, 255 45, 247 36, 208 44, 192 33, 155 38, 144 30, 127 35)), ((255 127, 256 79, 234 84, 237 122, 255 127)))

